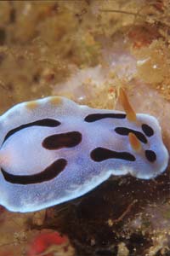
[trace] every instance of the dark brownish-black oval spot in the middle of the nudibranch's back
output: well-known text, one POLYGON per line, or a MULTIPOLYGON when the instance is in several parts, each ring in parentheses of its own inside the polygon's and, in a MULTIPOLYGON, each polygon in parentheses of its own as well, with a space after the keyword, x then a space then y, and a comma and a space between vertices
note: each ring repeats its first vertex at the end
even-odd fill
POLYGON ((47 149, 72 148, 82 141, 82 134, 79 131, 54 134, 46 137, 42 147, 47 149))

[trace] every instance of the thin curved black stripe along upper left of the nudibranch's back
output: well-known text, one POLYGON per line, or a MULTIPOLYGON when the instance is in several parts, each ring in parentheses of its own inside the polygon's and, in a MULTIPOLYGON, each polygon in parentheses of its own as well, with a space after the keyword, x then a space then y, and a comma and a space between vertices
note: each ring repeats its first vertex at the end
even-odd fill
POLYGON ((25 129, 27 127, 31 127, 31 126, 56 127, 60 124, 61 123, 55 119, 41 119, 41 120, 37 120, 35 122, 29 123, 26 125, 20 125, 20 126, 14 128, 13 130, 8 131, 7 135, 5 136, 5 138, 3 140, 3 143, 8 139, 8 137, 12 136, 15 132, 25 129))

